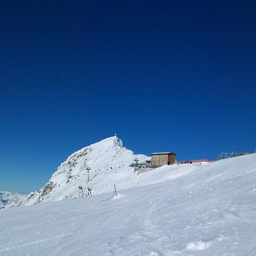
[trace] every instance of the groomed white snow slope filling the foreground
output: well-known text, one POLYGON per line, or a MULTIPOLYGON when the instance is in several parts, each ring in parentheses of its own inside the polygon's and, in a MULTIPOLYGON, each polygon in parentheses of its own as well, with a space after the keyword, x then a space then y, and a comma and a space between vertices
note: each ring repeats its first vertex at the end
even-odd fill
POLYGON ((256 154, 134 179, 148 185, 1 209, 0 255, 256 255, 256 154))

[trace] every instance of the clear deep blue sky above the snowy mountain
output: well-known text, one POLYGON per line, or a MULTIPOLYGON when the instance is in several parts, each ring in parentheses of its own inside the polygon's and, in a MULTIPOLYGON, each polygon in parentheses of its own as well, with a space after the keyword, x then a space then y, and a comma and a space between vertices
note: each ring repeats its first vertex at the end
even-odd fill
POLYGON ((114 133, 135 154, 256 147, 255 1, 4 1, 0 191, 114 133))

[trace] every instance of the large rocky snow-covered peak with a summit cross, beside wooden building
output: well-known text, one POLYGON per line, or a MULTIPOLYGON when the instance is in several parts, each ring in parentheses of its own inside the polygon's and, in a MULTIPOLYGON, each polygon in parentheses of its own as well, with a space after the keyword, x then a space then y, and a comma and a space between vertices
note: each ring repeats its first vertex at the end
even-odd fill
MULTIPOLYGON (((146 155, 136 156, 141 161, 148 158, 146 155)), ((86 194, 88 187, 92 195, 113 191, 114 183, 118 180, 129 182, 129 178, 135 175, 134 169, 129 167, 133 159, 133 151, 123 147, 121 139, 116 136, 91 144, 61 163, 39 192, 28 195, 24 205, 77 198, 81 193, 86 194), (82 191, 79 187, 82 187, 82 191)))

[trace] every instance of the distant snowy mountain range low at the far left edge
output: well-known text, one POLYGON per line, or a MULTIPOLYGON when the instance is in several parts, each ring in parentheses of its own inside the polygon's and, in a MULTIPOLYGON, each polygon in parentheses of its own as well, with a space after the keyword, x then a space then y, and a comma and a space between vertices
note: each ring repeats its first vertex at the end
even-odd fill
POLYGON ((0 209, 22 205, 25 197, 18 193, 0 191, 0 209))

